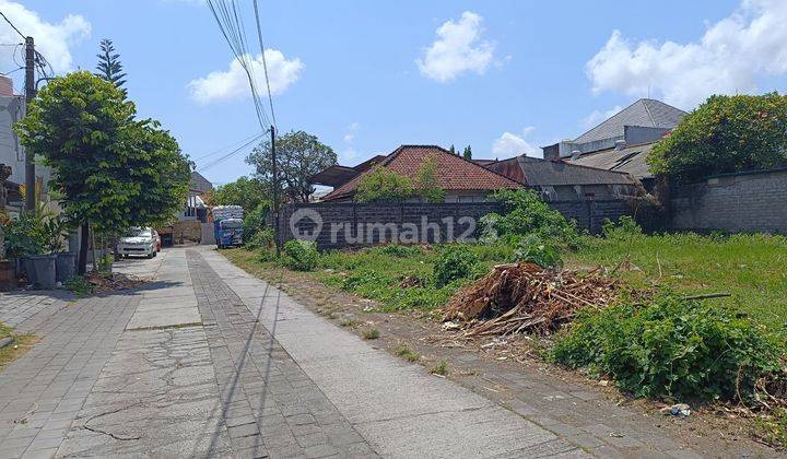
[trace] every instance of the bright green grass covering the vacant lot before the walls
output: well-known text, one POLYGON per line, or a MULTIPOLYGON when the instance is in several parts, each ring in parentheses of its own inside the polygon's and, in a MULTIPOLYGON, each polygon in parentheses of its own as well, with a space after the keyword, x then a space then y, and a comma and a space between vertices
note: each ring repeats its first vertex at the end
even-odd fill
MULTIPOLYGON (((719 307, 732 307, 759 321, 786 328, 787 238, 767 235, 730 237, 674 234, 618 237, 586 237, 582 248, 563 255, 571 268, 603 266, 612 275, 635 287, 669 286, 688 294, 730 293, 713 299, 719 307)), ((513 249, 503 245, 477 245, 478 275, 492 264, 507 262, 513 249)), ((254 272, 255 267, 273 267, 259 261, 260 252, 224 251, 233 261, 254 272)), ((433 282, 438 258, 433 247, 377 247, 353 251, 324 252, 313 274, 326 284, 376 299, 386 310, 434 309, 462 285, 444 287, 433 282)), ((465 281, 467 282, 467 281, 465 281)))

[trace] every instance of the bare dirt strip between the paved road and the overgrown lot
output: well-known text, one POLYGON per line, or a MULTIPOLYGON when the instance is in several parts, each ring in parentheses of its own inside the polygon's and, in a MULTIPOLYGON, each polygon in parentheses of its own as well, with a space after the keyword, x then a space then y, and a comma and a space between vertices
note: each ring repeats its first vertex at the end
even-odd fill
MULTIPOLYGON (((753 422, 719 407, 692 407, 689 417, 674 417, 659 412, 663 404, 622 395, 611 384, 591 380, 541 360, 549 338, 526 336, 462 338, 456 330, 446 330, 439 311, 377 311, 375 302, 319 283, 313 273, 255 266, 254 275, 266 279, 299 304, 322 315, 338 327, 362 337, 375 327, 379 338, 368 343, 393 355, 424 366, 441 368, 435 377, 447 377, 501 405, 517 411, 512 402, 525 400, 538 407, 540 414, 525 415, 547 429, 555 428, 549 416, 561 415, 571 425, 612 422, 621 431, 610 428, 609 436, 624 435, 627 425, 637 425, 655 438, 669 438, 680 447, 689 447, 706 457, 775 457, 779 452, 752 439, 753 422), (445 369, 445 372, 443 372, 445 369), (522 382, 524 381, 524 382, 522 382), (522 389, 522 384, 526 389, 522 389), (582 411, 561 400, 560 393, 580 393, 589 401, 582 411), (526 399, 522 399, 525 397, 526 399), (568 407, 566 407, 568 404, 568 407), (566 411, 575 412, 572 414, 566 411), (590 411, 587 411, 590 410, 590 411), (616 419, 613 420, 613 419, 616 419)), ((557 434, 562 432, 553 431, 557 434)), ((607 436, 607 434, 601 435, 607 436)), ((616 438, 614 438, 616 439, 616 438)))

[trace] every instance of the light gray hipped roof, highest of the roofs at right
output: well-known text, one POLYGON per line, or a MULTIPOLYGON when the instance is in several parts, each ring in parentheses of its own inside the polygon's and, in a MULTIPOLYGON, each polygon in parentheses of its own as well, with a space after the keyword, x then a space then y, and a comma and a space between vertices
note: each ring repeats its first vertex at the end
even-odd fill
POLYGON ((653 98, 641 98, 611 116, 600 125, 574 139, 574 143, 587 143, 623 136, 625 126, 647 128, 674 128, 686 115, 680 108, 653 98))

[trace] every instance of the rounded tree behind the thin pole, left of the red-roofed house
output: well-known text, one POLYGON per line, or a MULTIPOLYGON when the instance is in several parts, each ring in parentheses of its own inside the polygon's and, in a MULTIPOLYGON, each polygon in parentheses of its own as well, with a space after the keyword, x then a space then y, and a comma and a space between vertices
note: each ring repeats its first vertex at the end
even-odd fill
MULTIPOLYGON (((320 143, 316 136, 304 131, 290 131, 279 137, 275 146, 279 181, 284 197, 292 202, 308 202, 315 192, 309 178, 337 164, 337 154, 330 146, 320 143)), ((246 162, 255 166, 256 178, 271 189, 273 163, 270 140, 260 143, 246 162)))

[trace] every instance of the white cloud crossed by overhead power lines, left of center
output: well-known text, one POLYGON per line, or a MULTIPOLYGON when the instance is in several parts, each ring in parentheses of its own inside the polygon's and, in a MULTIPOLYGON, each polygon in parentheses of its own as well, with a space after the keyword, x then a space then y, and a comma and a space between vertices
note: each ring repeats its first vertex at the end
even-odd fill
MULTIPOLYGON (((304 66, 298 58, 287 60, 278 49, 266 49, 265 54, 271 93, 273 95, 281 94, 298 79, 304 66)), ((258 55, 249 60, 257 87, 265 94, 267 90, 262 56, 258 55)), ((191 97, 200 104, 251 96, 248 76, 237 59, 230 62, 230 69, 226 71, 211 72, 207 76, 192 80, 188 84, 188 90, 191 97)))

